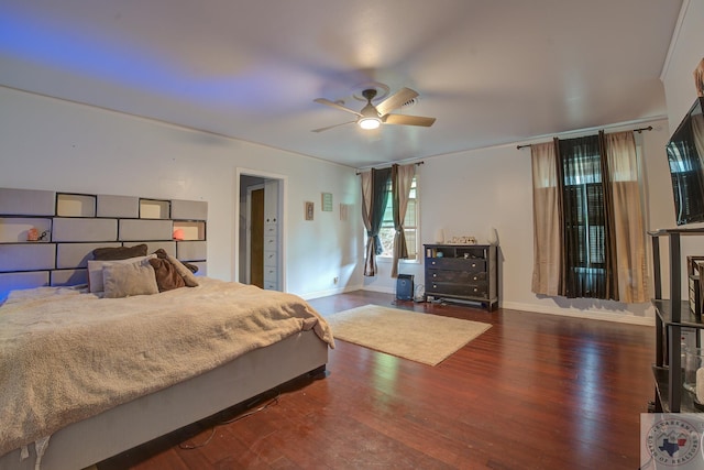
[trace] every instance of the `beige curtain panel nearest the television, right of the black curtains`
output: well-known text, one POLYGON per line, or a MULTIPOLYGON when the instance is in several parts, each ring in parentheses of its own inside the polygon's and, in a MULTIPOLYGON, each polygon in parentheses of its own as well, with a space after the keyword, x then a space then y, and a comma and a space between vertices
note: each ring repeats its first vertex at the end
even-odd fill
POLYGON ((614 196, 618 299, 629 304, 648 302, 646 231, 634 133, 605 134, 605 140, 614 196))

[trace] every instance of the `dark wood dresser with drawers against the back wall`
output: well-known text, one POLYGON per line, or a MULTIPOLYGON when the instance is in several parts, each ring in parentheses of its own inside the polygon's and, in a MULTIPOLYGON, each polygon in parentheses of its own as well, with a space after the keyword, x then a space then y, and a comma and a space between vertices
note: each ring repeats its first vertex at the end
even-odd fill
POLYGON ((424 244, 426 299, 448 298, 498 306, 498 270, 494 244, 424 244))

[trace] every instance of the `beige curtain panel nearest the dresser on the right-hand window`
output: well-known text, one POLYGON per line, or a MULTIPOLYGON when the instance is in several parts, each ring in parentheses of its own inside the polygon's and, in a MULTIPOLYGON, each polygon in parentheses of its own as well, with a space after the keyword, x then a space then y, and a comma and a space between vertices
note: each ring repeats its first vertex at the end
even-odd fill
POLYGON ((530 146, 532 164, 534 267, 531 291, 560 295, 562 258, 560 195, 554 143, 530 146))

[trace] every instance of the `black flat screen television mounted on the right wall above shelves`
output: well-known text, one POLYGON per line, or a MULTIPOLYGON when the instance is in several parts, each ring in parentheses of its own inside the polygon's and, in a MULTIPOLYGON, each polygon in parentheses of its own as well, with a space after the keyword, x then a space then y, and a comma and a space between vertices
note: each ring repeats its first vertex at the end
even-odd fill
POLYGON ((678 226, 704 222, 703 105, 697 98, 667 145, 678 226))

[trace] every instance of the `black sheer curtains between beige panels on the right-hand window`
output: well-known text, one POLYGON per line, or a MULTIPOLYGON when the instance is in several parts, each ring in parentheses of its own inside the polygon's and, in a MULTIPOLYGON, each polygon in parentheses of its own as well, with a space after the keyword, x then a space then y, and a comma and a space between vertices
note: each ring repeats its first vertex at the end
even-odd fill
POLYGON ((603 133, 559 140, 561 295, 617 299, 613 207, 603 133))

